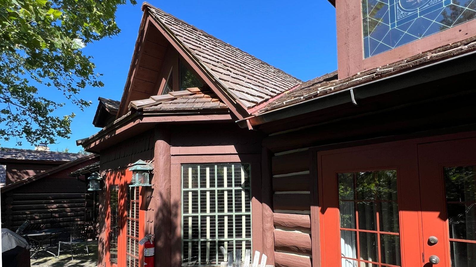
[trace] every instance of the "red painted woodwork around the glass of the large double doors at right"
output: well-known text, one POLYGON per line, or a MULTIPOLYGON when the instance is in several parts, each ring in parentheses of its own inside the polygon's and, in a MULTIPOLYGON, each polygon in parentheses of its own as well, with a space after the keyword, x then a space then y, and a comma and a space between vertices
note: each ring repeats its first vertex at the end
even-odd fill
POLYGON ((440 257, 440 265, 450 266, 441 167, 475 164, 476 139, 468 139, 475 136, 476 132, 467 132, 318 152, 320 207, 311 216, 320 222, 313 232, 320 232, 324 244, 321 266, 340 266, 337 173, 390 169, 397 170, 398 177, 402 266, 427 267, 430 255, 440 257), (437 220, 435 214, 440 213, 445 216, 437 220), (428 234, 442 237, 441 245, 429 247, 428 234))

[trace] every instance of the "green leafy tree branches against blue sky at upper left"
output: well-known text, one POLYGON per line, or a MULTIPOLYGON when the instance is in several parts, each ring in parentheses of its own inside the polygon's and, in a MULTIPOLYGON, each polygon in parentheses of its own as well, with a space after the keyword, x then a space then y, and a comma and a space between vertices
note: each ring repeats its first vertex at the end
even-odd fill
POLYGON ((69 137, 75 114, 52 115, 65 103, 41 97, 38 88, 57 90, 81 110, 88 107, 80 90, 104 85, 81 48, 118 34, 115 12, 126 3, 0 0, 0 140, 35 144, 69 137))

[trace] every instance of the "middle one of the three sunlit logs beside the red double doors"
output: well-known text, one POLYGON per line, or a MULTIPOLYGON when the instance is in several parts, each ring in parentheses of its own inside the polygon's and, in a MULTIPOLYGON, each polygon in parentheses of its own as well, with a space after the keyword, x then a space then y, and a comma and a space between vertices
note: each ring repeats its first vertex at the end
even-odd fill
POLYGON ((274 249, 311 256, 311 235, 307 233, 276 229, 274 230, 274 249))

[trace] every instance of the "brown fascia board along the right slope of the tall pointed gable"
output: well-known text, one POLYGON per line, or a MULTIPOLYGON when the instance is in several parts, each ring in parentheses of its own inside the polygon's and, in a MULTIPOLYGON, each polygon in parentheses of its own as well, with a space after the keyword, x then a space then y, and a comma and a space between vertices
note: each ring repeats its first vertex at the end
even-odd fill
MULTIPOLYGON (((145 6, 149 7, 150 5, 144 3, 145 6)), ((143 6, 143 8, 145 8, 143 6)), ((153 7, 152 7, 153 8, 153 7)), ((149 14, 149 13, 148 13, 149 14)), ((178 51, 178 54, 183 57, 187 63, 194 69, 194 71, 210 86, 210 89, 215 93, 221 101, 225 102, 228 105, 228 108, 240 119, 245 118, 249 115, 248 109, 236 101, 229 93, 224 90, 219 83, 215 81, 215 78, 210 74, 205 66, 203 66, 197 57, 188 52, 188 48, 181 45, 180 40, 178 40, 172 32, 169 32, 167 26, 159 20, 155 20, 148 15, 148 20, 150 23, 155 25, 159 32, 169 41, 169 43, 178 51)))

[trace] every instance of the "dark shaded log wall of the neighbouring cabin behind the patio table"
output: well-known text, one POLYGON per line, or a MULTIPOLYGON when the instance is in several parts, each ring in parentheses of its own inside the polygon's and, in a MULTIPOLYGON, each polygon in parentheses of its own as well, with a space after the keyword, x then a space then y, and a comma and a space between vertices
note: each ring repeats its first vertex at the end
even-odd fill
MULTIPOLYGON (((73 165, 2 193, 2 228, 16 230, 25 220, 46 223, 53 219, 64 227, 77 222, 88 224, 92 229, 93 194, 87 191, 86 183, 68 174, 96 161, 73 165)), ((92 231, 89 234, 94 238, 92 231)))

